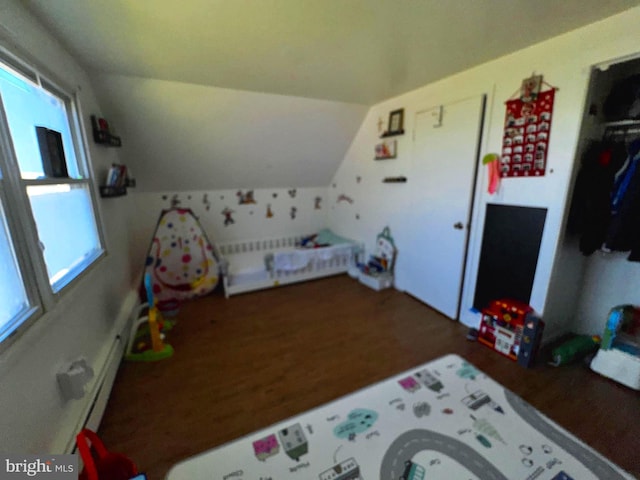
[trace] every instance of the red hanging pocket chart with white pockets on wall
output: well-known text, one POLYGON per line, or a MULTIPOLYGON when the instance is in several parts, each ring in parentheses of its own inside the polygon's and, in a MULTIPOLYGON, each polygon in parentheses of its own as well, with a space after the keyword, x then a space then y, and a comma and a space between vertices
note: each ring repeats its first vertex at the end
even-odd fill
POLYGON ((506 102, 500 175, 541 177, 547 154, 555 88, 506 102))

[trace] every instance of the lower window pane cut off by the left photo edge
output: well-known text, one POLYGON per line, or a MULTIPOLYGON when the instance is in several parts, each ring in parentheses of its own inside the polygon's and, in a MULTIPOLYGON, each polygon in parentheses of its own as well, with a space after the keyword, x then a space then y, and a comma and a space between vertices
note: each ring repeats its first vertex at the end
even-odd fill
POLYGON ((16 318, 28 307, 29 300, 0 205, 0 341, 14 330, 16 318))

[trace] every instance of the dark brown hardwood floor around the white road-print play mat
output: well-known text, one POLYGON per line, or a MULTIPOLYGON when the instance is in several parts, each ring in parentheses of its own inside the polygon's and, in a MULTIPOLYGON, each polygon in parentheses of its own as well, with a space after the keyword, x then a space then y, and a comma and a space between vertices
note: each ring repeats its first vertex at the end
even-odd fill
POLYGON ((348 276, 182 306, 175 355, 123 363, 100 434, 159 480, 176 462, 457 353, 640 475, 640 396, 582 365, 523 369, 395 290, 348 276))

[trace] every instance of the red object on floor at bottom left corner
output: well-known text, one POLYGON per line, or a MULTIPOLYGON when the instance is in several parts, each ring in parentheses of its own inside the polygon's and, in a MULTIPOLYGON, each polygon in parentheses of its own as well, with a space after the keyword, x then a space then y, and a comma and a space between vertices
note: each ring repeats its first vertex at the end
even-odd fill
POLYGON ((76 436, 76 444, 84 463, 79 480, 130 480, 138 474, 131 459, 107 450, 100 437, 87 428, 76 436))

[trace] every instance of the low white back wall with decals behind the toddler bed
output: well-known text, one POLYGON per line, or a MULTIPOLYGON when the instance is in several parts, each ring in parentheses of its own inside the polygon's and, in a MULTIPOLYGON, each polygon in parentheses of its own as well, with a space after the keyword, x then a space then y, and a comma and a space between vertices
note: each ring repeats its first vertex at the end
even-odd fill
POLYGON ((141 269, 156 222, 163 209, 176 198, 179 206, 191 208, 211 242, 274 238, 281 235, 309 235, 326 227, 327 211, 333 204, 327 199, 326 187, 255 189, 256 203, 239 204, 234 190, 189 190, 186 192, 136 193, 136 222, 132 224, 132 258, 134 268, 141 269), (206 196, 206 197, 205 197, 206 196), (319 202, 316 203, 316 199, 319 202), (273 216, 267 217, 270 207, 273 216), (318 207, 318 208, 316 208, 318 207), (225 225, 222 211, 233 211, 234 223, 225 225), (295 208, 292 218, 292 208, 295 208))

